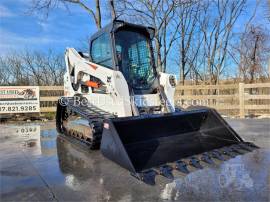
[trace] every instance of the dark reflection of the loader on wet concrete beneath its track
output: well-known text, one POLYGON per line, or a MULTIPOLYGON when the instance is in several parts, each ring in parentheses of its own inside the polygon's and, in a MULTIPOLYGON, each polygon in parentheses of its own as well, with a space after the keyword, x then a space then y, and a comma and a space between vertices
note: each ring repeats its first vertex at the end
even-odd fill
MULTIPOLYGON (((57 151, 65 185, 73 191, 88 193, 87 200, 140 201, 140 193, 151 190, 128 171, 105 159, 99 151, 88 151, 69 138, 57 138, 57 151)), ((154 198, 158 199, 158 194, 154 198)))

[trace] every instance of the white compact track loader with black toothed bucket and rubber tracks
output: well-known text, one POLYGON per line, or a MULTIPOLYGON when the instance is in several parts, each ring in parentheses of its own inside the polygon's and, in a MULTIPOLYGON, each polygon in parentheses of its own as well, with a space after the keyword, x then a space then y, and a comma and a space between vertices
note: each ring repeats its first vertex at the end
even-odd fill
POLYGON ((174 169, 257 148, 214 109, 175 107, 176 78, 157 72, 153 36, 151 27, 114 21, 91 37, 89 54, 67 48, 58 132, 151 184, 158 174, 171 178, 174 169))

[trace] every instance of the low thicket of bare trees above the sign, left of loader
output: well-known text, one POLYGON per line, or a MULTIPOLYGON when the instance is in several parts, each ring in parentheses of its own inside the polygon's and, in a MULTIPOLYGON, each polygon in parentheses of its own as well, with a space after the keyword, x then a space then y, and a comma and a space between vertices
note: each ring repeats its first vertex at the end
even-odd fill
POLYGON ((0 57, 1 85, 63 85, 65 71, 62 55, 49 51, 0 57))

